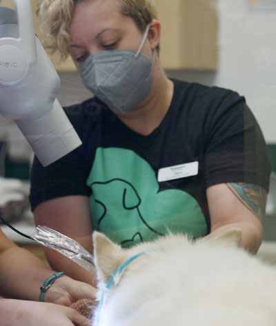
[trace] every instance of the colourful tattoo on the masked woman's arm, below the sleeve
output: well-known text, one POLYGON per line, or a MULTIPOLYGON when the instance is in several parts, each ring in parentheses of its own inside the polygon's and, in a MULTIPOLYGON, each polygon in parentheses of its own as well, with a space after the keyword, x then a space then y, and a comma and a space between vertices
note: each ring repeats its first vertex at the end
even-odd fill
POLYGON ((263 221, 266 205, 266 191, 259 185, 252 183, 226 183, 227 187, 235 194, 253 214, 263 221))

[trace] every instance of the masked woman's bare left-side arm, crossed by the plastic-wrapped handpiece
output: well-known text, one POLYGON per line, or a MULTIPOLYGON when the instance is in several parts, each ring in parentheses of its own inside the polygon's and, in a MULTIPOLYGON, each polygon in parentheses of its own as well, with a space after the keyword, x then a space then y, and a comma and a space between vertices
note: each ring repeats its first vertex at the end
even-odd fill
MULTIPOLYGON (((65 196, 45 201, 34 209, 36 225, 46 225, 69 236, 92 253, 92 223, 89 198, 65 196)), ((55 250, 43 248, 50 266, 66 275, 95 285, 92 275, 55 250)))

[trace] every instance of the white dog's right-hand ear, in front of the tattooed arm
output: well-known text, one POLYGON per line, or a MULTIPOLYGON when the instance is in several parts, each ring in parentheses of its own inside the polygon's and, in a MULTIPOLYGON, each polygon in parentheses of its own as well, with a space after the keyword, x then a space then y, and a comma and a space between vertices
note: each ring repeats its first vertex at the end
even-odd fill
POLYGON ((231 245, 235 247, 242 247, 242 229, 240 227, 226 227, 225 229, 209 234, 201 241, 210 243, 211 245, 231 245))

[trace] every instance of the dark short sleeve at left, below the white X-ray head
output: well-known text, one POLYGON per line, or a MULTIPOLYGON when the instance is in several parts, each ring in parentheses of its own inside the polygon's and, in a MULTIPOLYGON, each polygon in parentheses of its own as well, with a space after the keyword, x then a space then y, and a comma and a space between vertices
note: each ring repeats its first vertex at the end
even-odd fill
MULTIPOLYGON (((67 109, 67 108, 65 108, 67 109)), ((91 168, 89 142, 90 121, 82 113, 81 105, 66 110, 72 125, 79 134, 83 144, 76 150, 63 156, 58 161, 43 167, 35 157, 30 172, 30 205, 31 209, 52 198, 62 196, 90 196, 86 180, 91 168)))

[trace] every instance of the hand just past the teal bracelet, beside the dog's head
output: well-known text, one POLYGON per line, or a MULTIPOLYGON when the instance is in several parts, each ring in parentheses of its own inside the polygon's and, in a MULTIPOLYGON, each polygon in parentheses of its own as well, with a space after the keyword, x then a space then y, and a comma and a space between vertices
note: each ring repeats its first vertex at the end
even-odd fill
POLYGON ((68 276, 58 278, 48 289, 45 302, 70 306, 79 299, 95 300, 96 289, 87 283, 75 281, 68 276))

